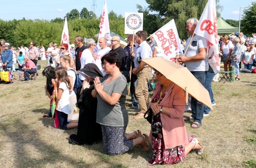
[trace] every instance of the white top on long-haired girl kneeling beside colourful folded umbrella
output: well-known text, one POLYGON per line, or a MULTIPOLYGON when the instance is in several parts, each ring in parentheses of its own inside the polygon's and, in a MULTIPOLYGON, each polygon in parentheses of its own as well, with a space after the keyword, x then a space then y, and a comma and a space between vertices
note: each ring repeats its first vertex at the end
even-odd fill
POLYGON ((66 83, 61 82, 59 84, 59 89, 63 89, 63 92, 57 104, 57 110, 65 114, 70 114, 72 111, 72 108, 69 103, 69 88, 67 88, 66 83))

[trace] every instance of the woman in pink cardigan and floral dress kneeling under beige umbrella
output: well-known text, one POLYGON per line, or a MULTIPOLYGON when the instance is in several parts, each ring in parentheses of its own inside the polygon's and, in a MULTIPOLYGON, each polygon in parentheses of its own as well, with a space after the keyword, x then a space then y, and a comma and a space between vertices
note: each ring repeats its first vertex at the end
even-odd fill
POLYGON ((204 149, 200 140, 193 135, 187 136, 183 119, 186 104, 183 89, 156 69, 154 71, 157 84, 149 104, 155 114, 149 137, 153 141, 153 157, 148 165, 183 162, 185 155, 193 149, 201 155, 204 149))

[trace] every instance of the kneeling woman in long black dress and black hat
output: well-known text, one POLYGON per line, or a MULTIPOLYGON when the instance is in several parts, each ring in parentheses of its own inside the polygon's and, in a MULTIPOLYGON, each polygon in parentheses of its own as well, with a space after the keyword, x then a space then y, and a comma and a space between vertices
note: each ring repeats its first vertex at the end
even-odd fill
POLYGON ((96 77, 102 79, 103 75, 96 64, 86 64, 83 69, 77 71, 83 75, 82 89, 78 89, 77 104, 79 110, 77 135, 72 134, 69 137, 69 143, 75 145, 94 144, 102 141, 101 125, 96 123, 97 98, 91 95, 94 89, 93 80, 96 77))

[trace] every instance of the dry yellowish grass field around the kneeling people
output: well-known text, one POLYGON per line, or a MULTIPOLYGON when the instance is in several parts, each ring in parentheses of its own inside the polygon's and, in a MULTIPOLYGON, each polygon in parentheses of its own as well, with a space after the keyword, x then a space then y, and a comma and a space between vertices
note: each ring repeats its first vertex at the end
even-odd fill
MULTIPOLYGON (((46 61, 39 60, 41 69, 46 61)), ((17 64, 15 64, 17 67, 17 64)), ((223 68, 223 67, 222 67, 223 68)), ((50 99, 45 93, 46 78, 30 82, 14 80, 14 84, 0 84, 0 167, 1 168, 147 168, 152 151, 141 152, 134 147, 129 152, 109 156, 103 144, 75 146, 68 143, 74 130, 54 128, 48 113, 50 99)), ((19 79, 18 72, 14 72, 19 79)), ((216 106, 204 117, 202 127, 194 129, 186 122, 188 135, 196 135, 205 148, 203 155, 191 152, 184 163, 160 168, 255 168, 256 75, 242 73, 239 81, 213 82, 216 106)), ((130 97, 127 96, 127 104, 130 97)), ((126 133, 140 129, 149 133, 145 119, 133 119, 135 110, 127 108, 129 124, 126 133)), ((185 115, 190 115, 185 113, 185 115)))

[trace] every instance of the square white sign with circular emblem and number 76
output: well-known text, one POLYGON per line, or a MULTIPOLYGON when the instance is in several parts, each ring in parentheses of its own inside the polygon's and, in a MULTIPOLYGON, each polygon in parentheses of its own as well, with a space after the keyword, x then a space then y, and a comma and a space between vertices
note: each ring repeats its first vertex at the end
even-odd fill
POLYGON ((124 14, 124 34, 133 34, 143 30, 143 13, 124 14))

